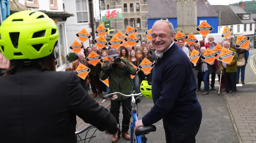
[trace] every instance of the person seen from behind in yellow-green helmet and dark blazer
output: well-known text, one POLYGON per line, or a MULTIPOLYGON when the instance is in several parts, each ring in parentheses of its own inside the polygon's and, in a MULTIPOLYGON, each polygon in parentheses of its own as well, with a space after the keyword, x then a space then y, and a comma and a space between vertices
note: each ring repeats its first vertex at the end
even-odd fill
POLYGON ((116 137, 116 119, 76 73, 55 71, 58 38, 55 22, 38 11, 17 12, 0 26, 0 50, 10 60, 0 78, 0 143, 76 143, 76 115, 116 137))

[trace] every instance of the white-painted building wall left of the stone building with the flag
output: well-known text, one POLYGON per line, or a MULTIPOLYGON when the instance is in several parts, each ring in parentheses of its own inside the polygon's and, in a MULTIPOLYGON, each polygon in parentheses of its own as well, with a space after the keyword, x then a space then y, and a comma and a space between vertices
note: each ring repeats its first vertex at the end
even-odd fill
MULTIPOLYGON (((99 8, 99 0, 94 0, 94 17, 97 18, 100 15, 100 8, 99 8)), ((66 29, 67 29, 67 38, 68 38, 68 46, 72 45, 74 41, 79 41, 78 37, 76 34, 81 31, 82 29, 86 29, 88 33, 92 32, 92 28, 90 28, 90 16, 89 16, 89 2, 86 0, 86 6, 88 10, 88 22, 86 23, 78 23, 77 22, 77 14, 76 14, 76 2, 75 0, 64 0, 64 5, 65 5, 65 11, 71 14, 74 14, 74 16, 70 17, 66 21, 66 29)), ((97 28, 97 27, 95 27, 97 28)), ((90 38, 92 40, 92 37, 90 38)), ((92 45, 92 44, 91 44, 92 45)), ((87 40, 84 43, 84 47, 89 47, 90 43, 89 40, 87 40)), ((69 49, 70 52, 72 52, 69 49)))

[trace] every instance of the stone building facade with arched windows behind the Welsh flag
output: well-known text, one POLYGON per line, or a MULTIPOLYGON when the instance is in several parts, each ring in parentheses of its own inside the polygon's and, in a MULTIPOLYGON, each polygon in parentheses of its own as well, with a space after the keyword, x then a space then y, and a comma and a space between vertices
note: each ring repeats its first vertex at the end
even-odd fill
POLYGON ((127 25, 129 25, 138 29, 136 36, 140 41, 147 41, 145 34, 145 31, 148 30, 147 0, 105 0, 105 2, 106 4, 102 4, 102 10, 122 8, 123 15, 123 19, 111 21, 111 29, 114 29, 114 31, 109 36, 113 36, 119 30, 124 34, 127 25))

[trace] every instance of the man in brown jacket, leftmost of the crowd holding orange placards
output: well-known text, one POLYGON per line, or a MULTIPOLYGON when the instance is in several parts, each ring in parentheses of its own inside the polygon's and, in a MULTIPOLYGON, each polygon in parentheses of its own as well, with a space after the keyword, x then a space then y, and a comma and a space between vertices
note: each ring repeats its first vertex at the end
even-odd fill
MULTIPOLYGON (((76 71, 76 68, 78 67, 78 65, 81 63, 83 65, 85 65, 86 67, 88 67, 87 61, 84 59, 85 55, 83 52, 80 52, 77 54, 79 59, 77 59, 76 61, 74 61, 73 66, 72 66, 72 72, 76 71)), ((80 82, 84 88, 84 90, 86 90, 86 92, 88 92, 88 84, 87 84, 87 79, 88 77, 84 79, 80 78, 80 82)))

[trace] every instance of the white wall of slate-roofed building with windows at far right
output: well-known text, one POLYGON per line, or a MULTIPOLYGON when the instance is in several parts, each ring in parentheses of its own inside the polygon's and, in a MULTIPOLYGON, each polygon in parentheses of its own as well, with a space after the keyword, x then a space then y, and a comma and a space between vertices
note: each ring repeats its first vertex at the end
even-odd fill
MULTIPOLYGON (((254 30, 255 30, 255 23, 252 24, 252 31, 250 31, 250 24, 246 24, 246 31, 244 31, 244 24, 239 24, 240 25, 240 32, 237 32, 237 25, 235 24, 233 25, 233 34, 234 35, 253 35, 254 34, 254 30)), ((224 27, 228 26, 229 28, 231 28, 231 25, 221 25, 218 26, 218 29, 220 29, 220 31, 218 31, 218 33, 222 33, 224 27)))

